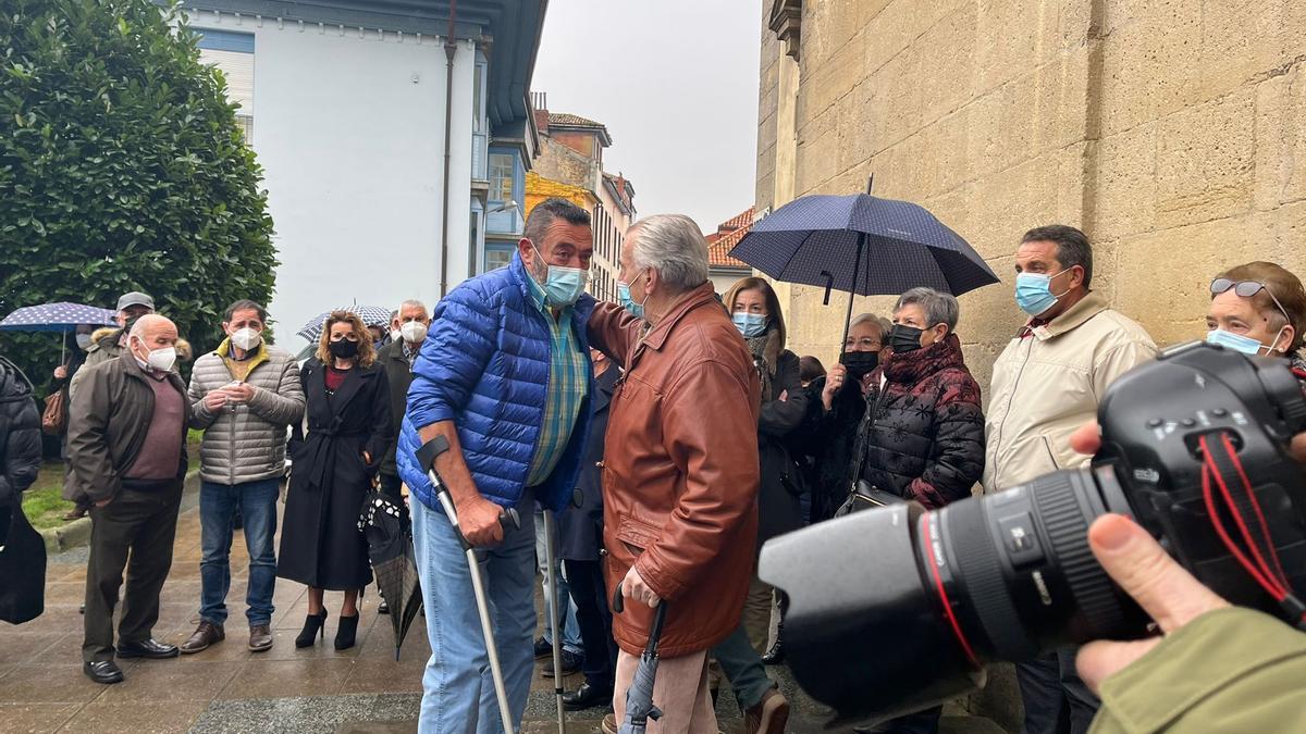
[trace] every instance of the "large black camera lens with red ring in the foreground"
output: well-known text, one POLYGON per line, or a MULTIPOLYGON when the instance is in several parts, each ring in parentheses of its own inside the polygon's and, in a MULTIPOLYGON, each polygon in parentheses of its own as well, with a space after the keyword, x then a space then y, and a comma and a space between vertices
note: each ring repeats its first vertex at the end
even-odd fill
POLYGON ((1088 547, 1088 525, 1107 511, 1128 511, 1114 471, 1067 470, 768 542, 760 575, 789 594, 798 683, 845 718, 879 720, 982 684, 989 662, 1141 635, 1141 611, 1088 547))

